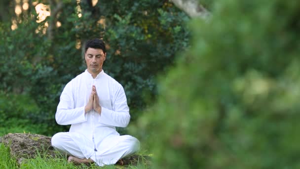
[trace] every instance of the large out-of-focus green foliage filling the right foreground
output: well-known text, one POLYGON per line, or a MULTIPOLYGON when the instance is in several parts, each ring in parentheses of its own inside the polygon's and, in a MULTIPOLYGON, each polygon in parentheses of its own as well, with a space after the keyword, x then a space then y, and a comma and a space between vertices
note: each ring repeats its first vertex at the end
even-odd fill
POLYGON ((154 169, 300 168, 300 1, 220 0, 139 119, 154 169), (145 134, 146 133, 146 134, 145 134))

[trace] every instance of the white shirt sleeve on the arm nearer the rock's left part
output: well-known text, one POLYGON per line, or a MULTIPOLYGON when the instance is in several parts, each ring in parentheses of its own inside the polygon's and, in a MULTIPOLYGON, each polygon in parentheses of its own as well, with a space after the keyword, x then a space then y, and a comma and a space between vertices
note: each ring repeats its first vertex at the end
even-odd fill
POLYGON ((74 108, 72 87, 72 82, 68 83, 60 96, 55 114, 55 120, 59 125, 73 125, 86 121, 84 106, 74 108))

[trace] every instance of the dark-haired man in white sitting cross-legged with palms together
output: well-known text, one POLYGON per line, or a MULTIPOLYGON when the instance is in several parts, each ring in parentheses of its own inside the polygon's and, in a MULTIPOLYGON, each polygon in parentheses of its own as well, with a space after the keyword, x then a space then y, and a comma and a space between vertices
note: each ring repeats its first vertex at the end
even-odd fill
POLYGON ((126 127, 130 120, 124 89, 102 70, 105 43, 93 39, 86 43, 87 69, 69 82, 55 114, 59 125, 71 125, 69 132, 56 133, 52 146, 67 155, 68 162, 115 164, 139 150, 140 142, 122 135, 115 127, 126 127))

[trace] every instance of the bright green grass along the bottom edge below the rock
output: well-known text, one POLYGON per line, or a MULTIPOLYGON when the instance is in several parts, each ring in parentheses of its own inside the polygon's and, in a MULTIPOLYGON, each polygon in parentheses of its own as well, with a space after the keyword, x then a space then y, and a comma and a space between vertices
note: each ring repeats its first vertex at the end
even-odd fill
POLYGON ((74 165, 67 162, 67 158, 64 155, 57 154, 56 158, 52 157, 41 157, 40 154, 35 159, 26 159, 21 166, 17 165, 15 159, 11 158, 10 150, 8 147, 0 144, 0 169, 148 169, 149 161, 141 159, 136 165, 129 166, 118 166, 110 165, 99 167, 95 164, 90 166, 86 165, 74 165))

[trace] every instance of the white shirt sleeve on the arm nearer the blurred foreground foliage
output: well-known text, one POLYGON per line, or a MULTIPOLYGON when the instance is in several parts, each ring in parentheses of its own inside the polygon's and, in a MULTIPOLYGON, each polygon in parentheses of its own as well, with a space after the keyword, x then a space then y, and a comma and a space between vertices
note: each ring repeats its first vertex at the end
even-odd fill
POLYGON ((102 107, 99 122, 115 127, 127 127, 130 121, 129 107, 122 85, 118 85, 112 101, 112 110, 102 107))

